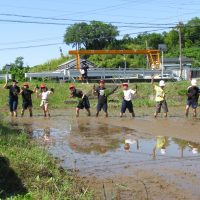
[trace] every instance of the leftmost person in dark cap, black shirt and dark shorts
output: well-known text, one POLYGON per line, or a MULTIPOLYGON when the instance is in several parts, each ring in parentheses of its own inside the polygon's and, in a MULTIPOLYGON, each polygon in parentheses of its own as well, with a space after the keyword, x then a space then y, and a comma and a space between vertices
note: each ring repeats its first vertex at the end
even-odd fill
POLYGON ((14 117, 17 117, 18 95, 20 93, 17 83, 16 80, 13 80, 12 85, 8 85, 7 83, 4 85, 4 88, 9 90, 10 115, 14 117))

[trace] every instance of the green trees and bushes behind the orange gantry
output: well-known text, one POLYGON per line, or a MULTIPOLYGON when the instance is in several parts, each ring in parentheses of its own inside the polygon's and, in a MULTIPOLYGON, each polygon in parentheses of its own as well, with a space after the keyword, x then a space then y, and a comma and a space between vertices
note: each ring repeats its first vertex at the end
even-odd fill
MULTIPOLYGON (((193 58, 193 66, 200 66, 200 18, 193 18, 186 24, 180 23, 169 32, 143 33, 136 37, 124 35, 118 39, 119 31, 112 24, 92 21, 91 23, 76 23, 66 29, 64 42, 77 49, 158 49, 159 44, 167 45, 166 57, 179 56, 179 35, 181 30, 183 55, 193 58), (146 46, 147 45, 147 46, 146 46)), ((121 66, 122 56, 88 56, 97 66, 121 66), (108 58, 108 59, 106 59, 108 58)), ((128 67, 144 67, 144 56, 131 55, 126 58, 128 67)))

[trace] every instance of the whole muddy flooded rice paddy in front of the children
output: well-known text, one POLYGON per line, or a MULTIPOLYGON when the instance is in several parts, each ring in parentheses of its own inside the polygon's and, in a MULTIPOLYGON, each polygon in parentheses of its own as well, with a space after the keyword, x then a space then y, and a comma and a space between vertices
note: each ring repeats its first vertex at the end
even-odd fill
POLYGON ((183 107, 170 116, 152 117, 153 108, 136 109, 137 117, 86 117, 74 110, 39 111, 33 118, 4 118, 22 128, 61 166, 82 177, 96 199, 200 199, 200 119, 184 117, 183 107))

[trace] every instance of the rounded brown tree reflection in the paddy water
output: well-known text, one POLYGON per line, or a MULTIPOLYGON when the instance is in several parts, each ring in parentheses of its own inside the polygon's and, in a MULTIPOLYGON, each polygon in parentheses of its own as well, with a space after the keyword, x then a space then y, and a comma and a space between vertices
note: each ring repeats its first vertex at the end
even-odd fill
POLYGON ((67 137, 72 150, 80 153, 105 154, 119 148, 123 138, 121 128, 101 123, 77 120, 67 137))

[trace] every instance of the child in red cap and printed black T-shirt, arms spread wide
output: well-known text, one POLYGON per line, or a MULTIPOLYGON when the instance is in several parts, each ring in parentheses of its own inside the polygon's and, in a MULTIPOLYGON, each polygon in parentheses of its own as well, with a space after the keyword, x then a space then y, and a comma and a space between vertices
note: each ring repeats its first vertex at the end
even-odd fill
POLYGON ((99 86, 96 88, 95 85, 93 87, 93 94, 98 96, 97 103, 97 112, 96 117, 99 116, 99 112, 103 109, 105 112, 105 116, 108 117, 108 96, 117 90, 118 86, 115 87, 112 91, 105 87, 105 81, 100 80, 99 86))

